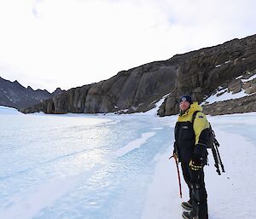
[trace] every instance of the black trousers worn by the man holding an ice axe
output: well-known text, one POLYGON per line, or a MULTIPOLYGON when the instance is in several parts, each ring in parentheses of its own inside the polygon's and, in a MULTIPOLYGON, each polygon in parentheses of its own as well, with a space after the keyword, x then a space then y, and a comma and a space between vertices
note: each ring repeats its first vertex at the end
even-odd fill
POLYGON ((183 178, 189 187, 189 198, 198 219, 208 219, 207 190, 205 186, 205 175, 201 170, 191 170, 189 164, 182 163, 183 178))

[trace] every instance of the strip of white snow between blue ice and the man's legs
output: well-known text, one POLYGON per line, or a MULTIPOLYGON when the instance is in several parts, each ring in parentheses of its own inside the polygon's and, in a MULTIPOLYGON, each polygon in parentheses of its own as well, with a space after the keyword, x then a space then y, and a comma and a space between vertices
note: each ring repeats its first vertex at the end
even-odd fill
MULTIPOLYGON (((182 208, 181 200, 178 199, 177 170, 175 170, 174 160, 168 159, 171 151, 172 148, 169 148, 168 153, 159 154, 154 158, 157 164, 154 169, 153 182, 148 187, 142 219, 181 218, 182 208)), ((183 179, 181 180, 183 189, 185 189, 183 193, 188 194, 183 179)))

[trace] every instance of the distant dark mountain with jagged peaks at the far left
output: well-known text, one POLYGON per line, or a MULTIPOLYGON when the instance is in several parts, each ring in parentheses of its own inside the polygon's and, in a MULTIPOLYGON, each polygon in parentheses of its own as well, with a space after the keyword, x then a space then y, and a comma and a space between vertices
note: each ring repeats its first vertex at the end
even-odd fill
POLYGON ((61 92, 61 89, 56 89, 52 94, 46 89, 33 90, 30 86, 23 87, 18 81, 10 82, 0 77, 0 105, 5 107, 14 107, 20 110, 38 104, 61 92))

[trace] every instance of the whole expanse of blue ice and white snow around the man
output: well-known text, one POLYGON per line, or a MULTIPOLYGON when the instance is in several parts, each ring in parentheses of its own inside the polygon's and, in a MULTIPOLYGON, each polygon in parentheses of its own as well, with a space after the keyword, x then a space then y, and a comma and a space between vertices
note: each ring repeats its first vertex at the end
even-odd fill
MULTIPOLYGON (((1 219, 178 219, 177 116, 23 115, 0 109, 1 219)), ((226 173, 210 154, 210 218, 256 218, 256 113, 208 117, 226 173), (239 197, 239 199, 238 199, 239 197), (246 204, 246 205, 245 205, 246 204)))

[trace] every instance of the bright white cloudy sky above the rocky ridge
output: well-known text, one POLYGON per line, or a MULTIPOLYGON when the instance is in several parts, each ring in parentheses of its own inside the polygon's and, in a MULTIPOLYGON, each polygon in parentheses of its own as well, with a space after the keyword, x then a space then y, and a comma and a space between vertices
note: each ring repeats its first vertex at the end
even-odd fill
POLYGON ((254 0, 0 0, 0 76, 70 89, 256 33, 254 0))

